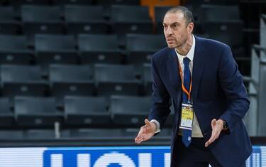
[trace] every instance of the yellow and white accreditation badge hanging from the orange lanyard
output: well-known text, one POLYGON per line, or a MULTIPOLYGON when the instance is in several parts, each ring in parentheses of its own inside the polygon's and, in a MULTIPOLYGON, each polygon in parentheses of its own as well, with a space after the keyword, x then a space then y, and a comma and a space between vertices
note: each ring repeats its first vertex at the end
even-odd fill
POLYGON ((192 130, 192 124, 193 124, 193 105, 182 104, 181 123, 179 128, 192 130))

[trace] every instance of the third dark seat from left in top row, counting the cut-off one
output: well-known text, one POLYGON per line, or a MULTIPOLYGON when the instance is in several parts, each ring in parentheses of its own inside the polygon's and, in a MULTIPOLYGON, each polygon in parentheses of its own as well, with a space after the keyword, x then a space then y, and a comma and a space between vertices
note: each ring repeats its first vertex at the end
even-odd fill
POLYGON ((108 25, 101 6, 65 6, 67 33, 106 33, 108 25))

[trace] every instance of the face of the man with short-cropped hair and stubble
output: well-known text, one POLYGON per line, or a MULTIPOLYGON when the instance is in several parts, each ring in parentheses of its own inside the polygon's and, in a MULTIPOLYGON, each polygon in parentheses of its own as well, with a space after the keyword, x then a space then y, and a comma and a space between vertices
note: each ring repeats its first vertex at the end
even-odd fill
POLYGON ((193 23, 187 25, 182 12, 165 14, 162 25, 167 45, 169 48, 179 48, 186 43, 193 30, 193 23))

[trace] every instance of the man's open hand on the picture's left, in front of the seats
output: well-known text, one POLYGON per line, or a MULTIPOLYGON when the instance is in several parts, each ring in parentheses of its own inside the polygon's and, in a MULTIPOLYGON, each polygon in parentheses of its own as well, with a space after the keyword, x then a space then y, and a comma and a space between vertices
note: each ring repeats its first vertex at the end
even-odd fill
POLYGON ((135 143, 140 144, 143 141, 147 141, 152 138, 156 131, 155 122, 149 122, 148 119, 145 119, 145 125, 140 127, 138 136, 135 137, 135 143))

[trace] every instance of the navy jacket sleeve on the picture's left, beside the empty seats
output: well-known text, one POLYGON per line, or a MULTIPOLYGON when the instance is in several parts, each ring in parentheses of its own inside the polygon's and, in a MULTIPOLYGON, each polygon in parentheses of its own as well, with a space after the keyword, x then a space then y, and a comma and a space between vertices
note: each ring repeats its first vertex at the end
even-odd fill
POLYGON ((154 61, 154 58, 152 58, 153 95, 149 120, 157 120, 160 123, 160 129, 162 129, 162 126, 165 124, 165 121, 171 112, 171 99, 161 80, 154 61))

